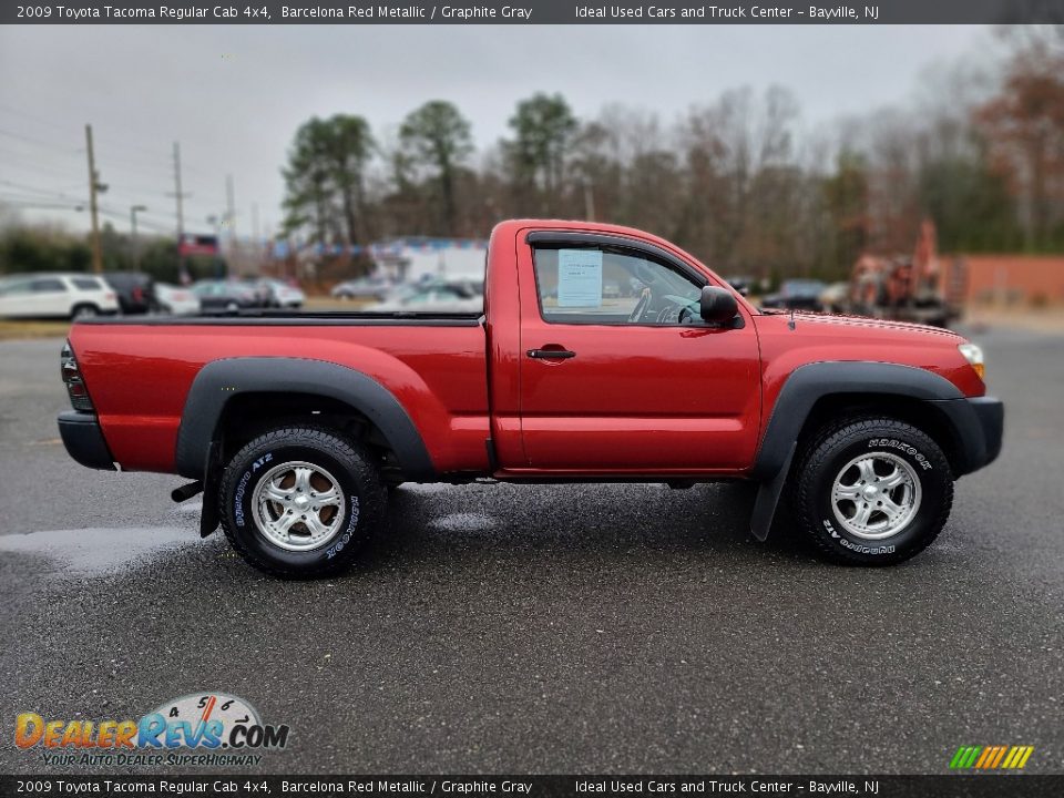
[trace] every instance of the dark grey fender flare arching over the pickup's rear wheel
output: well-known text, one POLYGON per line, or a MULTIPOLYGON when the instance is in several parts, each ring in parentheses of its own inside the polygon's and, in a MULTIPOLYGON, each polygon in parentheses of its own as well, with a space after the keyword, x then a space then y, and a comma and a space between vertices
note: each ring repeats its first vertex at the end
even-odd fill
POLYGON ((342 401, 380 430, 403 475, 413 482, 437 479, 417 426, 391 391, 361 371, 325 360, 238 357, 213 360, 188 389, 177 429, 175 467, 203 479, 213 460, 212 442, 226 403, 241 393, 310 393, 342 401))

